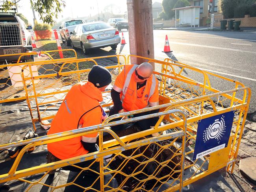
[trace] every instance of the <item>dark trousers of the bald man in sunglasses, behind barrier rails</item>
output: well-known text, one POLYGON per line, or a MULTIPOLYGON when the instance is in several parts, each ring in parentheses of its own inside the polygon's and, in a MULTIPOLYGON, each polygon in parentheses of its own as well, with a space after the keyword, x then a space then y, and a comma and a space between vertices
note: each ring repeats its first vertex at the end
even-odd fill
MULTIPOLYGON (((153 111, 147 111, 147 112, 143 112, 143 113, 134 114, 134 117, 139 117, 139 116, 158 113, 158 112, 159 112, 159 109, 156 109, 156 110, 153 110, 153 111)), ((113 114, 117 114, 117 113, 118 113, 118 110, 115 108, 115 106, 113 106, 109 109, 109 116, 111 116, 113 114)), ((119 121, 119 120, 121 120, 121 118, 116 118, 116 119, 111 120, 111 121, 113 122, 113 121, 119 121)), ((157 117, 152 117, 152 118, 149 118, 149 119, 143 119, 143 120, 137 121, 136 124, 137 124, 137 126, 139 126, 141 128, 141 130, 144 131, 144 130, 150 129, 150 126, 155 126, 156 122, 158 120, 159 120, 159 117, 157 116, 157 117)), ((126 127, 127 127, 127 125, 121 124, 121 125, 117 125, 117 126, 111 126, 111 129, 114 132, 116 132, 116 131, 125 129, 126 127)))

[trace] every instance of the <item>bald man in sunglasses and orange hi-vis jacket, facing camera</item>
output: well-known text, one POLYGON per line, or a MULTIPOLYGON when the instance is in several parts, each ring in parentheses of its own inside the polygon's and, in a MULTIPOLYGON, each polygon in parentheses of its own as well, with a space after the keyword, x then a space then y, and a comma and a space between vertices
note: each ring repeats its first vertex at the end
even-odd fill
MULTIPOLYGON (((158 80, 153 74, 152 65, 147 62, 141 65, 125 65, 122 72, 117 76, 113 89, 111 90, 111 97, 114 106, 111 107, 109 116, 159 105, 158 80)), ((159 110, 157 109, 134 114, 134 117, 158 112, 159 110)), ((154 117, 140 120, 136 124, 142 130, 147 130, 155 126, 158 120, 159 117, 154 117)), ((117 131, 123 128, 123 125, 113 126, 112 130, 117 131)), ((152 136, 157 135, 158 133, 152 134, 152 136)))

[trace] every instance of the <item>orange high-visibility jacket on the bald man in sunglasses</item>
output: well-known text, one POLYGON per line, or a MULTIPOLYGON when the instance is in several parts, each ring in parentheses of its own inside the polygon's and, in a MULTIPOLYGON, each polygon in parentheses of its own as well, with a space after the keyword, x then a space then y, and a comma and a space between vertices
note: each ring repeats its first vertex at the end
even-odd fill
POLYGON ((113 89, 121 92, 120 98, 125 111, 134 111, 158 105, 158 80, 152 74, 145 86, 137 90, 135 68, 139 65, 125 65, 117 76, 113 89))

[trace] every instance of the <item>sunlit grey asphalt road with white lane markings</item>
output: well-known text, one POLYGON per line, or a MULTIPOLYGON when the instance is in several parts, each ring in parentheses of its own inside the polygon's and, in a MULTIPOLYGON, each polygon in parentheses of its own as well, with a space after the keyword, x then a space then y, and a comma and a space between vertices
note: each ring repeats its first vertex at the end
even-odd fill
MULTIPOLYGON (((110 47, 103 50, 113 52, 113 54, 128 55, 130 53, 128 31, 122 30, 122 32, 127 44, 119 44, 117 50, 111 50, 110 47)), ((154 54, 156 59, 171 57, 182 63, 234 79, 246 87, 250 87, 252 97, 249 118, 256 121, 255 33, 154 30, 154 54), (173 54, 162 52, 165 35, 168 36, 173 54)), ((199 78, 194 74, 190 75, 191 78, 199 78)), ((220 84, 217 79, 212 81, 212 87, 219 90, 230 90, 230 86, 230 83, 220 84)))

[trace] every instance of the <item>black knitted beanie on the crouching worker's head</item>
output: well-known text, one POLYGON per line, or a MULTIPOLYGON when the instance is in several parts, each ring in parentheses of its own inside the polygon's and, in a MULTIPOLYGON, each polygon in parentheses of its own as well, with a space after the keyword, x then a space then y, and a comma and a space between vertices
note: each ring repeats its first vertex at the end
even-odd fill
POLYGON ((88 74, 88 81, 97 88, 104 87, 111 83, 111 73, 103 66, 93 65, 88 74))

